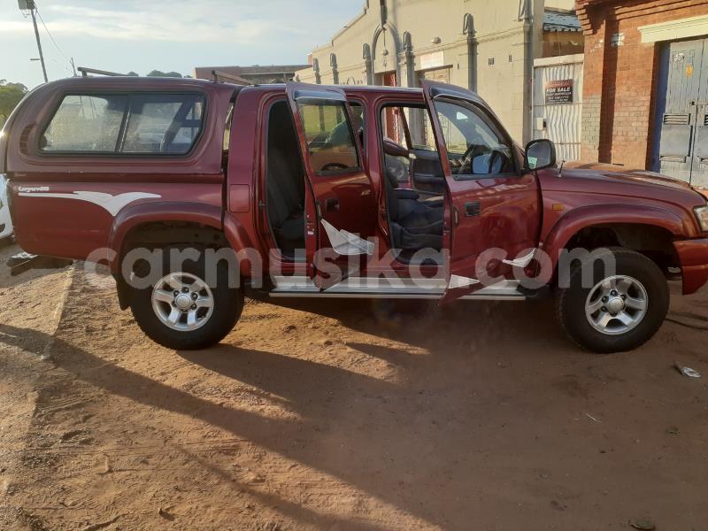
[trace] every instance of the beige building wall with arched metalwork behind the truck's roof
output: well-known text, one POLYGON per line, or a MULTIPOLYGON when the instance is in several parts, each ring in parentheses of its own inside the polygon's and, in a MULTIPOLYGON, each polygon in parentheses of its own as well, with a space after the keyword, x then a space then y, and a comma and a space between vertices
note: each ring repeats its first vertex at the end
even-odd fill
POLYGON ((386 4, 385 31, 379 2, 367 2, 331 42, 312 50, 313 67, 298 71, 296 79, 391 84, 390 73, 395 72, 396 84, 403 87, 418 87, 421 77, 447 81, 478 92, 517 141, 529 137, 530 88, 525 80, 531 75, 533 57, 527 58, 526 42, 530 38, 532 55, 542 57, 543 1, 533 3, 534 24, 525 21, 525 0, 386 4))

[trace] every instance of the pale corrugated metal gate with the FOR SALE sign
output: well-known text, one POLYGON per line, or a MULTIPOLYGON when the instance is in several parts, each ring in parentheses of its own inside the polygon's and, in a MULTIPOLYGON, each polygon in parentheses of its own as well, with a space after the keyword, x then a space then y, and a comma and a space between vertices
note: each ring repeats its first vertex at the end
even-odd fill
POLYGON ((580 160, 582 54, 534 61, 534 138, 556 144, 558 160, 580 160))

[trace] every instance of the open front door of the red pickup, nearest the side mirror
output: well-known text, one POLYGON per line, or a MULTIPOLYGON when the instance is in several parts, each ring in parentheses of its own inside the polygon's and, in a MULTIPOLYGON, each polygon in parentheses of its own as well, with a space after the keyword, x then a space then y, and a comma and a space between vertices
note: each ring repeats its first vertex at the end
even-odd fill
POLYGON ((522 170, 504 127, 479 96, 423 82, 447 198, 443 242, 450 250, 441 304, 502 281, 504 262, 530 262, 541 216, 538 184, 522 170))

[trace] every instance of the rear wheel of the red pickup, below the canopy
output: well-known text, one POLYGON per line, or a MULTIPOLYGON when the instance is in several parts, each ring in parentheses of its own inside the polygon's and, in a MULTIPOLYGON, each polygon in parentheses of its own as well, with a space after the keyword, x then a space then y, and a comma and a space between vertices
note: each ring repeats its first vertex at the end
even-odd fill
POLYGON ((168 349, 204 349, 233 329, 241 316, 243 291, 228 287, 226 265, 219 264, 215 286, 204 281, 201 261, 163 273, 154 285, 131 294, 135 321, 151 340, 168 349))

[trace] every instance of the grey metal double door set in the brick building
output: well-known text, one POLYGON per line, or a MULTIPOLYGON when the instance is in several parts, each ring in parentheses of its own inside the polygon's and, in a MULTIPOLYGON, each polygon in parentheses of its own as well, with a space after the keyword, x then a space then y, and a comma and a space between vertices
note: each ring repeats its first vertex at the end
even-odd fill
POLYGON ((668 44, 657 104, 658 171, 708 186, 708 40, 668 44))

